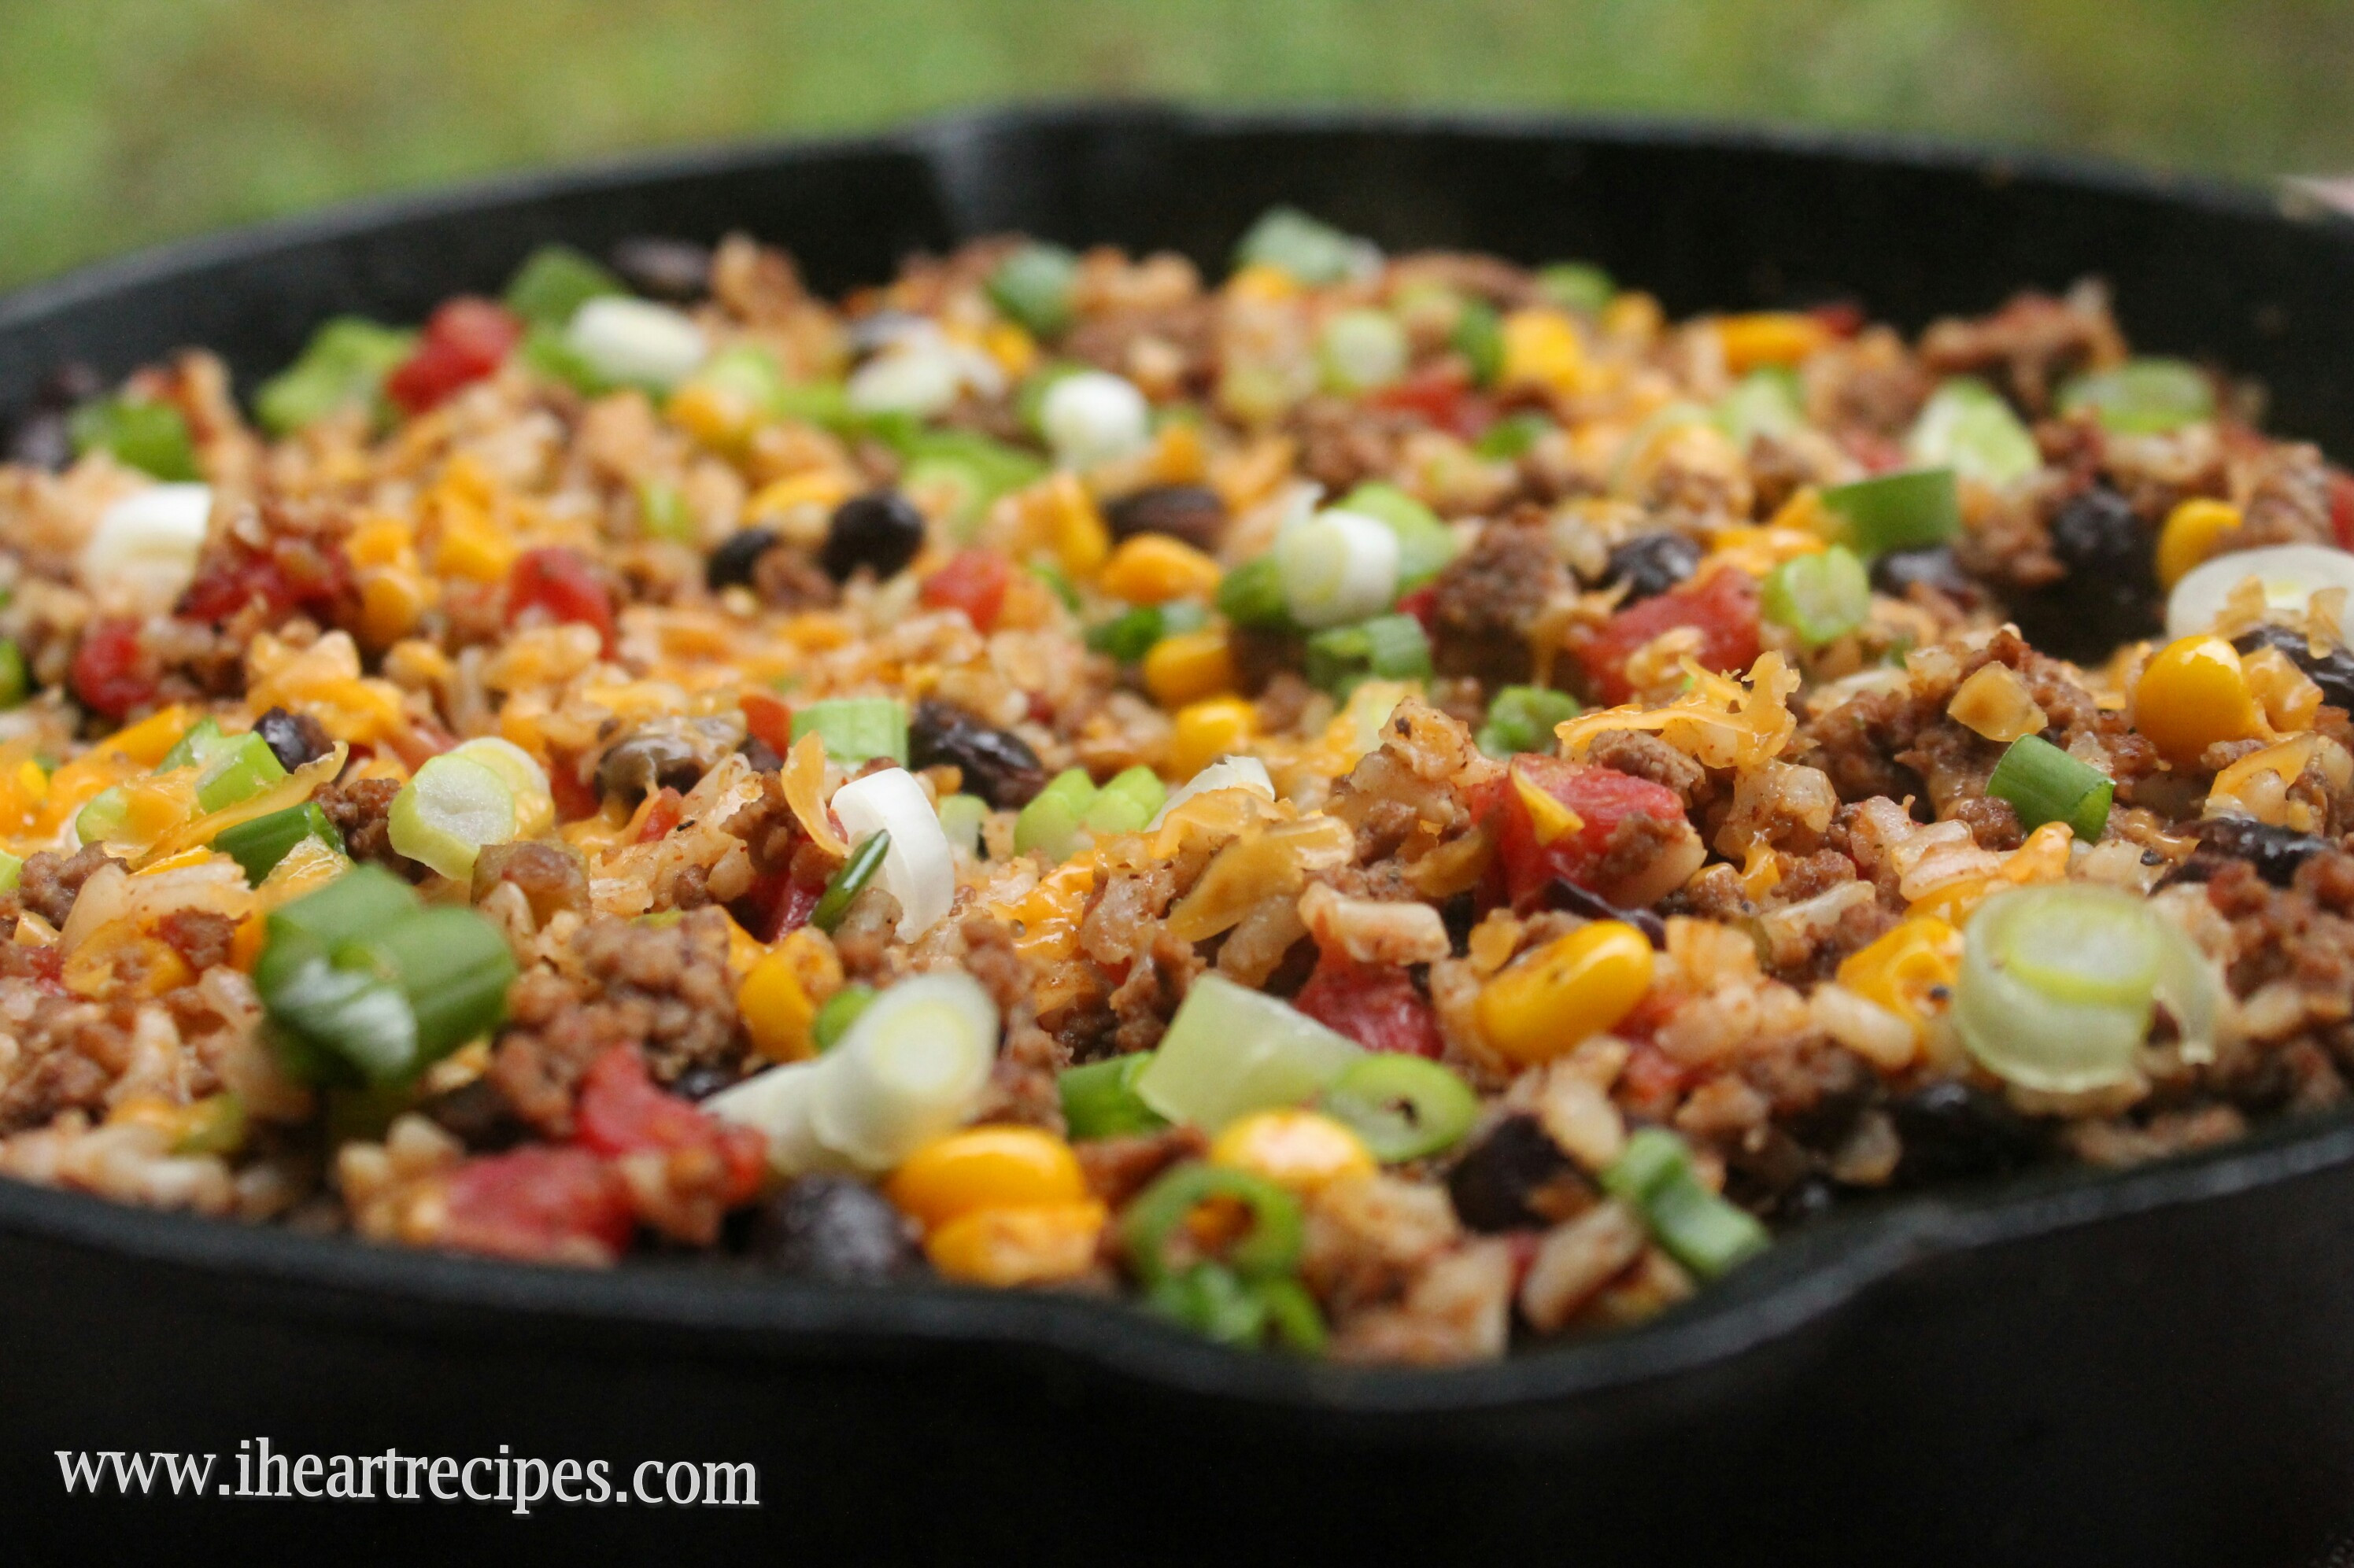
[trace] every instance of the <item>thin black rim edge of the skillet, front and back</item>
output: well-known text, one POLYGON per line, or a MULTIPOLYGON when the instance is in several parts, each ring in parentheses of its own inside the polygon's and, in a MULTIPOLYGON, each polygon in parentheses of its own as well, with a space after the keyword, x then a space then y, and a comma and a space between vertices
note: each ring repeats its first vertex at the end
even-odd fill
MULTIPOLYGON (((2321 214, 2305 202, 2267 200, 2257 191, 2210 179, 1928 139, 1528 113, 1222 113, 1161 104, 1050 104, 939 115, 869 137, 666 151, 341 202, 141 250, 35 283, 0 297, 0 334, 33 330, 56 311, 186 271, 322 240, 365 240, 370 231, 405 221, 452 219, 548 195, 584 195, 843 155, 913 153, 939 165, 953 158, 958 141, 972 137, 1085 127, 1149 127, 1177 137, 1382 129, 1761 151, 1855 167, 2041 181, 2161 200, 2210 217, 2319 221, 2354 233, 2354 221, 2321 214)), ((723 1356, 887 1351, 895 1344, 1029 1347, 1182 1394, 1271 1410, 1377 1417, 1509 1410, 1671 1380, 1827 1321, 1860 1304, 1874 1285, 1937 1257, 2187 1203, 2227 1201, 2347 1163, 2354 1163, 2354 1116, 2326 1116, 2274 1125, 2222 1149, 2126 1172, 2076 1170, 2010 1187, 1890 1198, 1855 1217, 1834 1220, 1820 1231, 1784 1238, 1730 1281, 1648 1326, 1450 1370, 1332 1368, 1238 1354, 1165 1328, 1135 1309, 1069 1295, 949 1285, 855 1290, 661 1264, 570 1271, 198 1220, 9 1180, 0 1180, 0 1231, 151 1264, 162 1288, 184 1274, 226 1278, 245 1288, 278 1290, 254 1302, 261 1309, 327 1311, 372 1321, 388 1333, 468 1333, 473 1314, 492 1314, 480 1318, 478 1328, 570 1323, 699 1330, 709 1335, 711 1354, 723 1356), (403 1309, 417 1316, 403 1321, 403 1309)))

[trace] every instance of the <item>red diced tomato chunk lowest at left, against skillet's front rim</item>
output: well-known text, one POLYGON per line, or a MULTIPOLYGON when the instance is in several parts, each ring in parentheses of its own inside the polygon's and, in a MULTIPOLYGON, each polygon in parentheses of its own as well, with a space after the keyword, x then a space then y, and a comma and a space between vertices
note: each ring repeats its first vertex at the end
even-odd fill
POLYGON ((457 1165, 440 1243, 544 1262, 612 1262, 636 1220, 621 1175, 588 1149, 525 1144, 457 1165))

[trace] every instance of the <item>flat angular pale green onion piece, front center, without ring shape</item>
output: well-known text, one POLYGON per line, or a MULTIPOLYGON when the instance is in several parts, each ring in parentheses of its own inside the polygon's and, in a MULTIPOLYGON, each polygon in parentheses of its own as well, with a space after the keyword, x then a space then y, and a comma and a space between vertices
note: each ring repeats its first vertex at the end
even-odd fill
POLYGON ((1203 975, 1137 1076, 1137 1095, 1170 1121, 1217 1132, 1236 1116, 1314 1099, 1363 1055, 1290 1003, 1203 975))

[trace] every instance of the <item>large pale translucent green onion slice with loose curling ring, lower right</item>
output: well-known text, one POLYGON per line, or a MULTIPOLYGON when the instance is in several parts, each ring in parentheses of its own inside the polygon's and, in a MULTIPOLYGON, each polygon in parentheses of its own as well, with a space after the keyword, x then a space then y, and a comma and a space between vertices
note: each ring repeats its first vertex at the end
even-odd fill
POLYGON ((2133 1081, 2159 1003, 2185 1057, 2208 1050, 2217 984, 2144 899, 2093 883, 2003 892, 1963 932, 1954 1024, 1987 1071, 2079 1095, 2133 1081))

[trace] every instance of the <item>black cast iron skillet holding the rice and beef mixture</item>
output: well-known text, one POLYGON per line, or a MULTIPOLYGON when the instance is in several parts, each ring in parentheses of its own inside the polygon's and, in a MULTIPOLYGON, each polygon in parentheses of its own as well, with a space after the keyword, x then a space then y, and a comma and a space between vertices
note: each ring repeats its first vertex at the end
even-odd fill
MULTIPOLYGON (((784 242, 819 290, 996 231, 1217 266, 1290 200, 1389 247, 1591 257, 1671 311, 1919 327, 2102 273, 2133 339, 2354 452, 2354 226, 1914 146, 1080 108, 346 207, 0 304, 0 410, 184 344, 240 386, 541 240, 784 242)), ((1452 1373, 1236 1356, 1066 1297, 523 1269, 0 1182, 0 1519, 47 1556, 457 1542, 638 1561, 1302 1556, 2262 1563, 2354 1514, 2354 1128, 1893 1201, 1620 1337, 1452 1373), (52 1450, 751 1460, 758 1509, 66 1497, 52 1450), (742 1537, 742 1542, 737 1542, 742 1537)), ((659 1476, 659 1471, 657 1471, 659 1476)), ((659 1481, 657 1481, 659 1486, 659 1481)))

